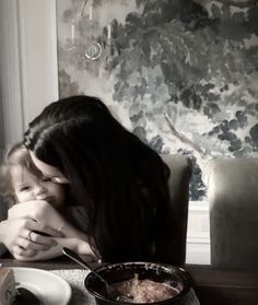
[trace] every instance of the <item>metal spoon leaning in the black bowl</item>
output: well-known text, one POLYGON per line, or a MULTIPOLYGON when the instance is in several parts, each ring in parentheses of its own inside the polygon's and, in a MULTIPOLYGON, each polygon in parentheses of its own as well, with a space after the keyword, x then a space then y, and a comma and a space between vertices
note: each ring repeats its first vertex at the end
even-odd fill
POLYGON ((62 253, 69 258, 71 258, 72 260, 77 261, 85 269, 93 272, 94 275, 96 275, 105 284, 107 296, 109 296, 112 300, 116 300, 120 302, 131 301, 131 298, 127 297, 126 295, 121 295, 121 293, 117 289, 108 284, 108 282, 99 273, 97 273, 94 269, 92 269, 92 267, 84 259, 82 259, 77 253, 66 247, 62 248, 62 253))

